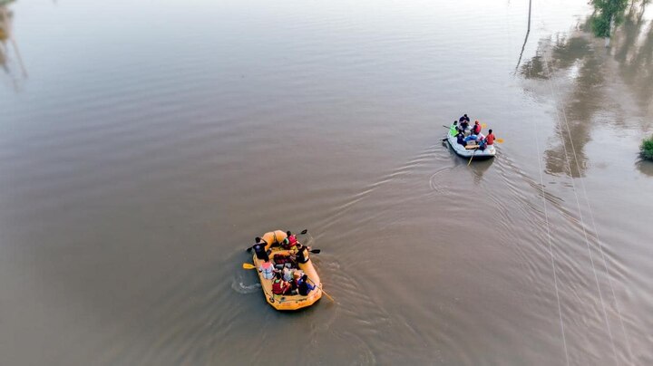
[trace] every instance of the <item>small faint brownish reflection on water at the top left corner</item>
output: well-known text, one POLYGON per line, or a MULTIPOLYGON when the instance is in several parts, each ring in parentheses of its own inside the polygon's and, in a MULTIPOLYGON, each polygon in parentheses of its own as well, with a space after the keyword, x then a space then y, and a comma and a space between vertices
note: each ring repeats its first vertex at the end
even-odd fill
POLYGON ((14 0, 0 0, 0 65, 5 74, 9 76, 14 88, 17 89, 19 82, 27 77, 27 71, 12 33, 14 13, 9 9, 9 5, 12 3, 14 0), (15 57, 15 61, 12 59, 13 57, 15 57))

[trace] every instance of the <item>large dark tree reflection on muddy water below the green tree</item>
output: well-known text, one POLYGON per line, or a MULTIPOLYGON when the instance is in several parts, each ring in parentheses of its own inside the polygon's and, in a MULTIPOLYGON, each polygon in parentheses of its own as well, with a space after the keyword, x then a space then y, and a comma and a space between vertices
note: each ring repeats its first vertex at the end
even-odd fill
POLYGON ((590 33, 588 18, 568 35, 541 40, 536 54, 522 65, 521 75, 547 83, 543 90, 551 91, 561 104, 556 116, 559 142, 545 151, 549 173, 576 178, 584 174, 588 167, 585 145, 597 123, 608 122, 619 128, 639 121, 640 128, 646 127, 653 101, 653 22, 644 20, 646 5, 630 7, 613 47, 607 51, 590 33), (615 77, 626 91, 614 85, 615 77), (638 116, 614 111, 622 110, 619 103, 628 102, 622 101, 624 92, 637 101, 638 116), (567 166, 566 161, 574 159, 578 164, 567 166))

